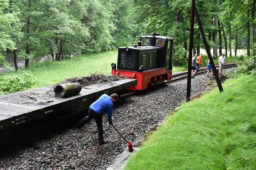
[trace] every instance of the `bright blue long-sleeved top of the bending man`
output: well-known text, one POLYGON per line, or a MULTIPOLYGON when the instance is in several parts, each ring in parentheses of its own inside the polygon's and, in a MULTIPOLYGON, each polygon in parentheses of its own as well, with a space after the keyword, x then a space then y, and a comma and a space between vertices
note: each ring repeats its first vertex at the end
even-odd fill
POLYGON ((98 100, 94 101, 91 104, 90 109, 93 109, 93 111, 101 115, 105 112, 108 112, 108 118, 111 118, 113 106, 114 106, 113 101, 108 95, 105 94, 105 95, 101 95, 98 100))

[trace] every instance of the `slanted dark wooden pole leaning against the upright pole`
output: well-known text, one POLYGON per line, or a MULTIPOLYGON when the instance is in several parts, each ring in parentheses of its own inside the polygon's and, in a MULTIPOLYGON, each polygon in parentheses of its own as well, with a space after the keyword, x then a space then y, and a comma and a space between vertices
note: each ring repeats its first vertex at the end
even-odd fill
POLYGON ((196 15, 196 20, 197 20, 198 28, 199 28, 199 30, 200 30, 200 32, 201 32, 201 35, 202 35, 202 38, 203 38, 203 42, 204 42, 204 47, 205 47, 205 49, 206 49, 206 53, 207 53, 207 55, 208 55, 208 57, 209 57, 209 60, 210 60, 211 65, 212 65, 213 74, 214 74, 215 79, 216 79, 216 81, 217 81, 219 90, 220 90, 220 92, 222 92, 222 91, 223 91, 223 88, 222 88, 222 85, 221 85, 221 82, 220 82, 219 74, 218 74, 218 72, 217 72, 217 70, 216 70, 216 67, 215 67, 215 64, 214 64, 214 62, 213 62, 213 60, 212 60, 212 55, 211 55, 211 52, 210 52, 210 47, 209 47, 209 45, 208 45, 208 43, 207 43, 207 40, 206 40, 206 38, 205 38, 204 30, 203 30, 203 25, 202 25, 202 23, 201 23, 201 20, 200 20, 200 18, 199 18, 198 13, 197 13, 196 6, 195 6, 195 15, 196 15))

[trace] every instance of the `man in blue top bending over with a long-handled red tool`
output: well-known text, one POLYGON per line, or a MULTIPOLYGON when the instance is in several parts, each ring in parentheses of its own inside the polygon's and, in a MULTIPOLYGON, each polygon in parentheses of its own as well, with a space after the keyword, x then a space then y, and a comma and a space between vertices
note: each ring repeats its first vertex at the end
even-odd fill
POLYGON ((110 96, 106 94, 101 95, 98 100, 94 101, 94 103, 91 104, 91 106, 89 107, 88 115, 76 124, 76 128, 81 128, 84 124, 90 122, 91 119, 94 118, 97 124, 99 144, 102 145, 106 143, 103 140, 102 115, 107 112, 109 124, 112 124, 111 117, 114 106, 113 103, 116 102, 118 98, 119 97, 117 94, 112 94, 110 96))

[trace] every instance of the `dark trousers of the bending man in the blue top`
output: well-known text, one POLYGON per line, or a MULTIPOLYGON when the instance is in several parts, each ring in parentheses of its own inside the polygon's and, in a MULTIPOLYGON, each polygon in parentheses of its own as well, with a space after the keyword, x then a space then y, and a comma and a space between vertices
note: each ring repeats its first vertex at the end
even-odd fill
POLYGON ((93 109, 89 108, 88 116, 85 116, 81 121, 78 122, 78 126, 81 127, 90 122, 91 119, 94 118, 97 124, 97 131, 98 131, 98 140, 99 142, 103 142, 103 128, 102 128, 102 115, 93 111, 93 109))

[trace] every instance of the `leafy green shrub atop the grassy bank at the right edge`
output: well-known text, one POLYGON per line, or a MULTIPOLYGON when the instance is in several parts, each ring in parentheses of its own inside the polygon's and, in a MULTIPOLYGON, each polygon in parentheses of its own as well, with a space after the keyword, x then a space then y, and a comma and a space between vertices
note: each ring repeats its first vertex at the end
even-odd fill
POLYGON ((256 56, 249 58, 245 62, 239 64, 238 69, 231 74, 231 78, 238 78, 243 75, 256 75, 256 56))

